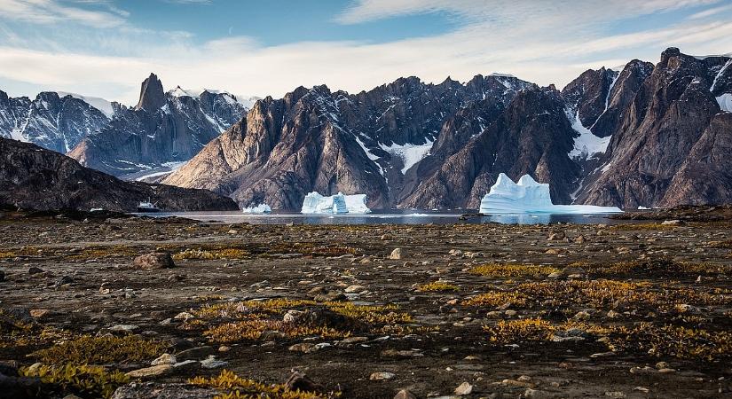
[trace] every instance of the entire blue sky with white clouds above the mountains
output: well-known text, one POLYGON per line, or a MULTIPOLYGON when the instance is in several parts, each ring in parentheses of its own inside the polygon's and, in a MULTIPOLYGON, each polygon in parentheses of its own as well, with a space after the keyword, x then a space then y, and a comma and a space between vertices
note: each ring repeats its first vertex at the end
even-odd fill
POLYGON ((166 90, 274 98, 410 75, 561 88, 671 46, 732 52, 732 0, 0 0, 0 90, 127 105, 151 72, 166 90))

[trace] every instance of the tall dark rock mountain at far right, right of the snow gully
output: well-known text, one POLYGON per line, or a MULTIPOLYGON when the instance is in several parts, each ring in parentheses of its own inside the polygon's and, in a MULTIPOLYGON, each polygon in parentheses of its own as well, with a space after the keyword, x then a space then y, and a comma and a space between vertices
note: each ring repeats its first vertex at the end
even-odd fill
POLYGON ((579 201, 620 207, 727 201, 732 165, 720 154, 728 151, 732 129, 714 94, 732 92, 722 70, 727 63, 664 51, 621 111, 603 166, 586 178, 579 201))

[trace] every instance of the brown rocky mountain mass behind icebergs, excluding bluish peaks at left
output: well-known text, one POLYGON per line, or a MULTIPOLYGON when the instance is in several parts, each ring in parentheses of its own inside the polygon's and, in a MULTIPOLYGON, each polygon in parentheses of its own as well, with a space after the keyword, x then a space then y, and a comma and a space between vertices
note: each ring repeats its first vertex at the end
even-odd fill
POLYGON ((163 182, 286 209, 311 191, 365 193, 374 208, 477 207, 500 172, 550 184, 555 203, 729 202, 730 65, 669 49, 562 91, 510 75, 300 87, 257 101, 163 182))

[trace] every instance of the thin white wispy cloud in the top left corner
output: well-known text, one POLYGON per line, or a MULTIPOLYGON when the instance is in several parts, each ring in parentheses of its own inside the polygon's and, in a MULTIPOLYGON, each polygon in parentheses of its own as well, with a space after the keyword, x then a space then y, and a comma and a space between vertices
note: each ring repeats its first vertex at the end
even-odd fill
POLYGON ((118 27, 125 21, 119 12, 85 10, 54 0, 0 0, 0 17, 34 24, 72 21, 89 27, 118 27))

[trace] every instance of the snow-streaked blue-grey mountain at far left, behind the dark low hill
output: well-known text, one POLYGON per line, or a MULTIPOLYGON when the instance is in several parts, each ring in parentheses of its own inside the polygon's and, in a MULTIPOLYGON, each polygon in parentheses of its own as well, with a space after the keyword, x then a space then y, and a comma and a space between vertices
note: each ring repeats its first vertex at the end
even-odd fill
POLYGON ((105 113, 70 95, 46 91, 31 100, 0 91, 0 137, 67 153, 108 121, 105 113))

